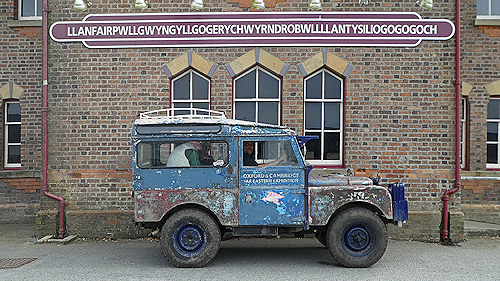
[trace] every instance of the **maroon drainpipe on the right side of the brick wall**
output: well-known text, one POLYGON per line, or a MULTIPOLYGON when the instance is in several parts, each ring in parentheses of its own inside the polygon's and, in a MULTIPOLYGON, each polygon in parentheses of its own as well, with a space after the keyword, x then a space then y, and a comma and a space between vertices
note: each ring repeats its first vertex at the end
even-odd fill
POLYGON ((447 190, 443 199, 443 229, 441 230, 441 237, 443 242, 450 242, 449 231, 448 231, 448 201, 450 200, 450 194, 457 192, 460 189, 460 136, 462 134, 460 130, 460 103, 461 103, 461 85, 462 81, 460 78, 460 0, 456 0, 456 19, 455 19, 455 61, 456 61, 456 73, 455 73, 455 123, 456 123, 456 133, 455 133, 455 187, 447 190))

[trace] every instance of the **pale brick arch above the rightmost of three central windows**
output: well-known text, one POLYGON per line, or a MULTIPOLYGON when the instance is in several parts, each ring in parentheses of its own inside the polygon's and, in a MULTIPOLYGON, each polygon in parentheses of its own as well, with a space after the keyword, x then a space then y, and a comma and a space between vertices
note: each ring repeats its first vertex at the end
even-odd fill
POLYGON ((352 64, 339 58, 338 56, 323 50, 303 63, 299 63, 298 68, 302 76, 308 76, 322 67, 328 67, 343 77, 347 77, 352 70, 352 64))

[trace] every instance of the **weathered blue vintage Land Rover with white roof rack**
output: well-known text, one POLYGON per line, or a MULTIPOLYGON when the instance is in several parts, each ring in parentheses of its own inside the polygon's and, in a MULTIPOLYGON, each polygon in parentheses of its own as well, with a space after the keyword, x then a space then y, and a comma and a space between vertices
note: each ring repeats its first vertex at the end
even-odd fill
POLYGON ((285 127, 227 119, 222 112, 165 109, 132 127, 135 221, 161 230, 165 256, 201 267, 223 237, 314 233, 347 267, 368 267, 387 247, 387 223, 401 226, 401 183, 310 176, 307 137, 285 127))

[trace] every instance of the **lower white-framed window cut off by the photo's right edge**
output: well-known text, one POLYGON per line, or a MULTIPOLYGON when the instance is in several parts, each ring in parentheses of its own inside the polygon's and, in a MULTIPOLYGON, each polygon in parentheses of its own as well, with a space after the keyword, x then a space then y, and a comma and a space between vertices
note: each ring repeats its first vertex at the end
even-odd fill
POLYGON ((486 138, 486 167, 500 168, 499 144, 500 144, 500 97, 490 98, 488 103, 488 123, 486 138))

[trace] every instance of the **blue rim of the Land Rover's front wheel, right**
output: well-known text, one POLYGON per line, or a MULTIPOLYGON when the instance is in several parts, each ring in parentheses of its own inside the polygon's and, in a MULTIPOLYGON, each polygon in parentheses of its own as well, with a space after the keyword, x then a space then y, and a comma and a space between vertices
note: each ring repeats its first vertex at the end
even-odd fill
POLYGON ((362 257, 373 250, 373 230, 361 224, 351 225, 342 233, 342 247, 352 256, 362 257))

